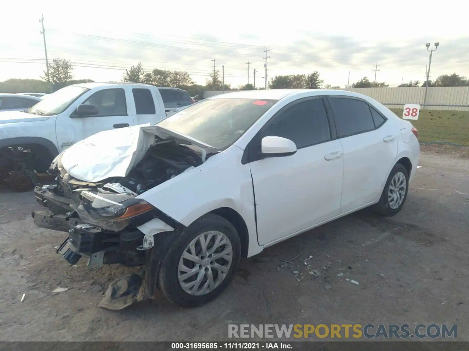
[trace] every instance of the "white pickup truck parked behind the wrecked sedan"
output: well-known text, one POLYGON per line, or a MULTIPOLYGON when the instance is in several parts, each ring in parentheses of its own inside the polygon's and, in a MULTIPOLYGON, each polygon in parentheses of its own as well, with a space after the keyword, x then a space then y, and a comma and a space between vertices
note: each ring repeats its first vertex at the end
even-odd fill
POLYGON ((68 146, 97 132, 166 118, 156 87, 83 83, 57 90, 24 111, 0 112, 0 183, 26 191, 68 146))

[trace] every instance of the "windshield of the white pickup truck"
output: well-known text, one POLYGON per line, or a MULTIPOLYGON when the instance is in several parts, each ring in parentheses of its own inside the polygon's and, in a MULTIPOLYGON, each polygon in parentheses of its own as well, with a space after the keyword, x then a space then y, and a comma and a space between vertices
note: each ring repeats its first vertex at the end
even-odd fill
POLYGON ((90 89, 74 85, 61 88, 53 94, 48 94, 46 99, 39 101, 25 112, 41 116, 57 115, 67 109, 72 102, 88 90, 90 89))

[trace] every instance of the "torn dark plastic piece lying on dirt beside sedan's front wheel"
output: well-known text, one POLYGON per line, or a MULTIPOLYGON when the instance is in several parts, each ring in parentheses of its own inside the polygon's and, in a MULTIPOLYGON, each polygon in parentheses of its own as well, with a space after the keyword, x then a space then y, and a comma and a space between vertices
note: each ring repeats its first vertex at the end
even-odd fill
POLYGON ((142 277, 135 273, 117 278, 109 284, 98 306, 113 310, 130 306, 134 301, 143 300, 144 286, 142 277))

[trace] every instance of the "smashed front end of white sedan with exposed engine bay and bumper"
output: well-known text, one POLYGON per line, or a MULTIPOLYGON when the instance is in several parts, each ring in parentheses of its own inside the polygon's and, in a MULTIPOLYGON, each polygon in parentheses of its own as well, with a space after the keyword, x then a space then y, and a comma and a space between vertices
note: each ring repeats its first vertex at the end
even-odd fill
POLYGON ((56 184, 35 189, 46 210, 32 212, 32 217, 38 227, 68 232, 57 253, 72 265, 84 257, 90 269, 115 263, 145 266, 145 297, 152 298, 159 263, 174 231, 184 226, 138 195, 197 168, 207 152, 169 137, 154 138, 143 154, 127 175, 97 182, 73 177, 60 154, 49 170, 56 184))

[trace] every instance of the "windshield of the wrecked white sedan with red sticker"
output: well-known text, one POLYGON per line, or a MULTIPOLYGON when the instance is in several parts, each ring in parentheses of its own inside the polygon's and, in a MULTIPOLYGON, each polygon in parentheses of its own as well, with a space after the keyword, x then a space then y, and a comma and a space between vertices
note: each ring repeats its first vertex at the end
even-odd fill
POLYGON ((232 145, 278 100, 208 99, 157 125, 223 150, 232 145))

